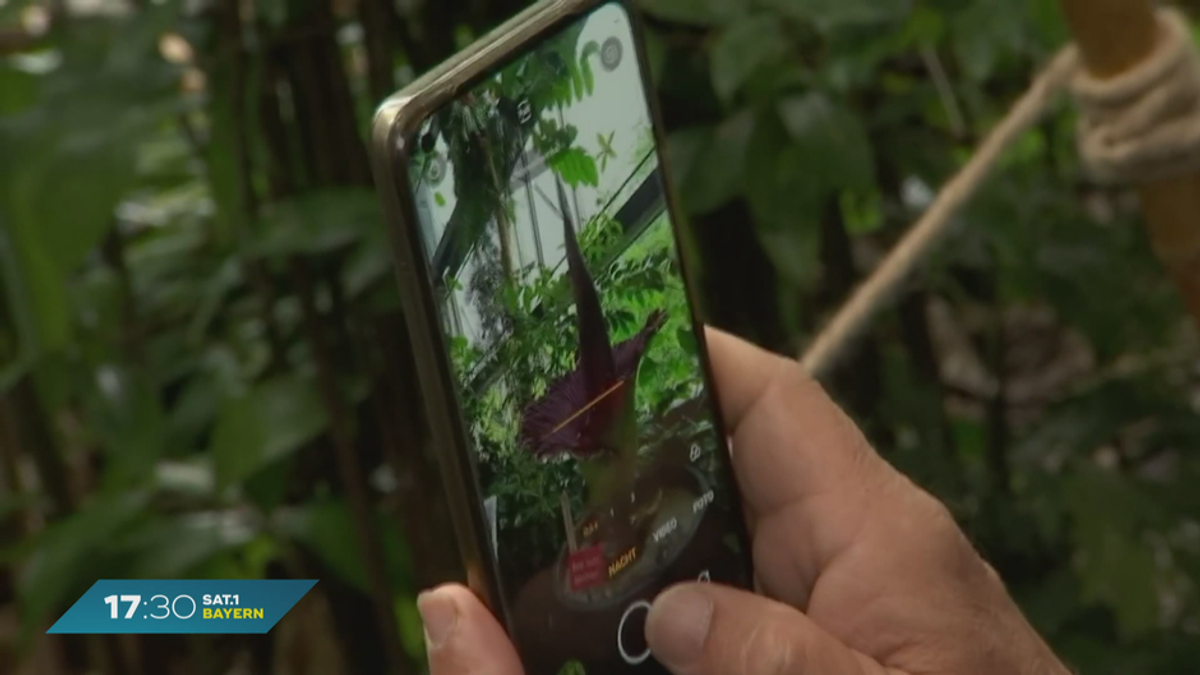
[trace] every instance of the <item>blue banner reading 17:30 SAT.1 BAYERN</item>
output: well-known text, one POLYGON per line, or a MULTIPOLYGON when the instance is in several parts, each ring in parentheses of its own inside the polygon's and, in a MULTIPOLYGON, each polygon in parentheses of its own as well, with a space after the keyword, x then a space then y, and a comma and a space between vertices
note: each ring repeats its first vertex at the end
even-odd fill
POLYGON ((47 632, 262 634, 316 584, 316 579, 102 579, 47 632))

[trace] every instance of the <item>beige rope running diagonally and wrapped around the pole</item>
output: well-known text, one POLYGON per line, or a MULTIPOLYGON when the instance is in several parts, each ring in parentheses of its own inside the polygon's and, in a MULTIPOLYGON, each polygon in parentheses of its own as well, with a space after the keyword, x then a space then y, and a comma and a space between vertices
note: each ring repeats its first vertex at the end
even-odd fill
POLYGON ((809 345, 800 364, 814 376, 836 364, 850 344, 892 299, 926 255, 947 237, 954 215, 997 160, 1069 88, 1080 106, 1079 150, 1104 180, 1141 183, 1200 168, 1200 52, 1187 19, 1162 8, 1153 54, 1112 79, 1091 77, 1078 48, 1060 52, 1034 78, 971 161, 938 193, 917 223, 809 345))

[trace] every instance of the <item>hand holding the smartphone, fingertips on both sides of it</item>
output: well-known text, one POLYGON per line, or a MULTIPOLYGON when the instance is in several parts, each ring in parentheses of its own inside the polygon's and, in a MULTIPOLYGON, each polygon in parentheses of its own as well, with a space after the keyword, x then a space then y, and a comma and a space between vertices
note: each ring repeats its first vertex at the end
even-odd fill
MULTIPOLYGON (((708 331, 763 596, 680 584, 646 637, 676 675, 1064 675, 950 513, 790 359, 708 331)), ((419 601, 432 675, 522 675, 464 587, 419 601)))

